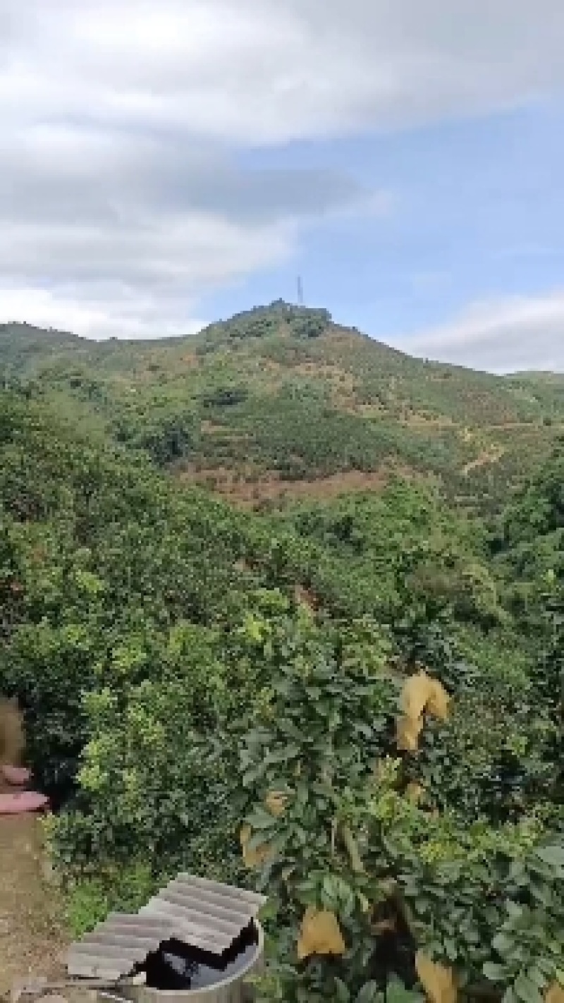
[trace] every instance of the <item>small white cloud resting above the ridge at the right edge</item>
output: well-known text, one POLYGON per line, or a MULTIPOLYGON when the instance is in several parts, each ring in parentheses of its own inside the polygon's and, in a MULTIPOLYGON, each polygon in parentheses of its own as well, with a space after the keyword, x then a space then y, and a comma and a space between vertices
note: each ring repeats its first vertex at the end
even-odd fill
POLYGON ((403 339, 402 347, 493 372, 564 371, 564 292, 477 304, 450 324, 403 339))

